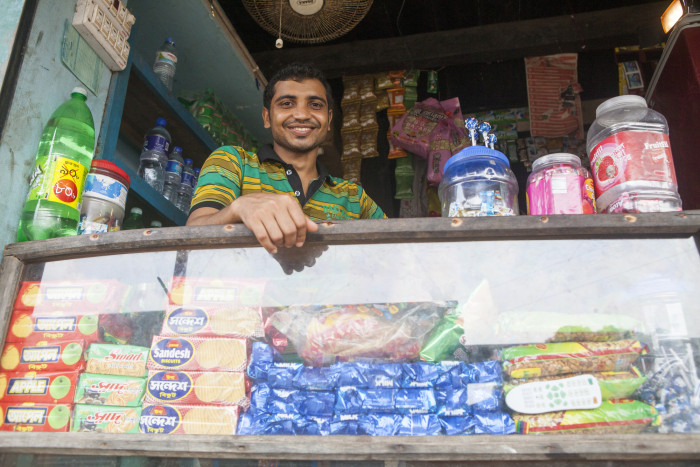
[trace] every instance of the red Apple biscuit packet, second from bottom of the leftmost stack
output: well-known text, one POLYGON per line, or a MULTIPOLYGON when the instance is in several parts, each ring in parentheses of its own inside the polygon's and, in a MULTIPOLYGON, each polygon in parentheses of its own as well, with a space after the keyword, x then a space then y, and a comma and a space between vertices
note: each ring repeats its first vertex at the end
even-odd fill
POLYGON ((77 371, 0 373, 0 402, 70 404, 78 374, 77 371))

